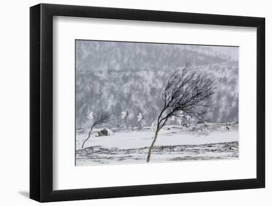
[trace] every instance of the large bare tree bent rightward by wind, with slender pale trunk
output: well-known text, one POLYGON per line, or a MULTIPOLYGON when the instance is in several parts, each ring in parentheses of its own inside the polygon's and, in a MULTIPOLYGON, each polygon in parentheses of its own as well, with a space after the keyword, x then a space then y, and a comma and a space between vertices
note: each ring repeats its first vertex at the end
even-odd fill
POLYGON ((176 69, 169 77, 162 92, 163 108, 154 127, 155 136, 148 150, 146 162, 149 162, 151 150, 157 140, 160 129, 172 117, 180 118, 180 112, 205 120, 212 108, 211 98, 216 91, 215 82, 205 72, 190 67, 188 62, 183 69, 176 69))

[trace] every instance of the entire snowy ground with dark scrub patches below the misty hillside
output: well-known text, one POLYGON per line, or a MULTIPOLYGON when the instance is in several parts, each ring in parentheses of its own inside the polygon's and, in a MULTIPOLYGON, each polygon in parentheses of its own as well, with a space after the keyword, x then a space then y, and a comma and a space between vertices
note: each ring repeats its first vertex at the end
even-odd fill
MULTIPOLYGON (((109 136, 97 136, 99 130, 93 130, 82 149, 89 130, 77 129, 76 165, 146 162, 154 138, 149 126, 115 127, 109 136)), ((238 158, 237 123, 171 125, 160 130, 150 162, 233 158, 238 158)))

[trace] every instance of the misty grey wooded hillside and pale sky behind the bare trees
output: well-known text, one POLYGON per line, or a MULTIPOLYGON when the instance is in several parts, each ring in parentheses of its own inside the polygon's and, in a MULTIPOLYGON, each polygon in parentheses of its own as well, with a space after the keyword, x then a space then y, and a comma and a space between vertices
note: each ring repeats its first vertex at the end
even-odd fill
POLYGON ((238 47, 76 40, 76 127, 90 126, 88 113, 100 110, 108 110, 115 125, 150 125, 170 73, 184 61, 217 83, 209 122, 237 122, 238 47), (122 111, 130 115, 122 119, 122 111))

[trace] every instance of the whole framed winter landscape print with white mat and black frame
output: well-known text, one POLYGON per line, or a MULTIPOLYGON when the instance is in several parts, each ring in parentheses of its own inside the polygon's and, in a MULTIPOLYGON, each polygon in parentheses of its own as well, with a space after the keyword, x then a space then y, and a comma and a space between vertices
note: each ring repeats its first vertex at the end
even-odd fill
POLYGON ((30 8, 30 198, 265 187, 265 18, 30 8))

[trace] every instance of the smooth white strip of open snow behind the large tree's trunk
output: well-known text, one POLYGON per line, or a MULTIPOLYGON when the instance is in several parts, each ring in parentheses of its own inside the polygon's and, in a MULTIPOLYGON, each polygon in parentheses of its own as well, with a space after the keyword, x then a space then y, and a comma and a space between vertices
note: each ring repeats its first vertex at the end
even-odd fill
MULTIPOLYGON (((146 128, 146 127, 145 127, 146 128)), ((190 133, 179 133, 182 126, 176 125, 175 127, 162 128, 158 134, 155 146, 163 145, 191 145, 191 144, 209 144, 220 142, 234 142, 238 141, 238 133, 236 131, 215 131, 208 136, 194 135, 190 133), (168 130, 167 128, 170 128, 168 130), (177 133, 176 133, 177 132, 177 133)), ((85 143, 84 148, 93 146, 103 147, 118 147, 120 149, 132 149, 149 147, 154 138, 154 132, 151 130, 129 130, 120 131, 111 134, 110 136, 95 136, 96 132, 101 129, 94 129, 91 138, 85 143)), ((113 129, 112 129, 113 130, 113 129)), ((76 149, 82 149, 83 141, 88 137, 88 132, 77 134, 76 149)))

